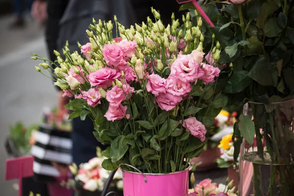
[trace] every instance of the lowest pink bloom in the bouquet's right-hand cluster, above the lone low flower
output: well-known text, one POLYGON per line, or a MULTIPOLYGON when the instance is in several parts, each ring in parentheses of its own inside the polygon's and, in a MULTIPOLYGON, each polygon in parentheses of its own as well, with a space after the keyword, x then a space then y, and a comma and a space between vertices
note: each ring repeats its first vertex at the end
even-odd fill
POLYGON ((170 93, 159 93, 155 97, 158 106, 165 111, 172 110, 179 102, 183 100, 181 96, 174 96, 170 93))

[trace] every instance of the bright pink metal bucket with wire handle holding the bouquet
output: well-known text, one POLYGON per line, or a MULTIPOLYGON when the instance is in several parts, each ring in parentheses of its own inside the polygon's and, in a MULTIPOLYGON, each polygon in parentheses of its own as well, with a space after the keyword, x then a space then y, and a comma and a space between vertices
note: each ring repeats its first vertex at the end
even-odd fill
POLYGON ((189 168, 182 172, 152 174, 123 172, 123 196, 188 196, 189 168))

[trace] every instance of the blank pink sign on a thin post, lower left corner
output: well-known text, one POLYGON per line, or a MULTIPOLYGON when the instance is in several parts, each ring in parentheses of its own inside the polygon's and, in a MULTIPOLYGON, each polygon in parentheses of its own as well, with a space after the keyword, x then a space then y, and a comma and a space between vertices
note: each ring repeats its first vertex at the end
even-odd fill
POLYGON ((19 196, 22 196, 22 178, 34 175, 33 156, 22 156, 6 160, 5 180, 19 179, 19 196))

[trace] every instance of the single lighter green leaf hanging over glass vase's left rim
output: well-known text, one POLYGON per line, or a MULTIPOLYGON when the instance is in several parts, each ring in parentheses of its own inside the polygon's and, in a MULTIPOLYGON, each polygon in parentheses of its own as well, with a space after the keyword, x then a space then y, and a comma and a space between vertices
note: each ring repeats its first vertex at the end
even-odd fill
POLYGON ((245 138, 245 140, 249 143, 249 145, 253 145, 255 128, 254 124, 248 116, 244 116, 243 114, 239 117, 239 130, 241 136, 245 138))

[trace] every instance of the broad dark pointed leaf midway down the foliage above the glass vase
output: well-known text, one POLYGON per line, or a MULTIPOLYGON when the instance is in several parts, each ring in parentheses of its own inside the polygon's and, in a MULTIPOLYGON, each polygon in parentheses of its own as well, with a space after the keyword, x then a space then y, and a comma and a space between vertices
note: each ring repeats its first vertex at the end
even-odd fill
POLYGON ((253 68, 248 73, 248 76, 263 86, 272 85, 272 78, 269 71, 268 61, 264 57, 256 61, 253 68))

